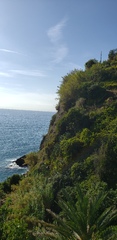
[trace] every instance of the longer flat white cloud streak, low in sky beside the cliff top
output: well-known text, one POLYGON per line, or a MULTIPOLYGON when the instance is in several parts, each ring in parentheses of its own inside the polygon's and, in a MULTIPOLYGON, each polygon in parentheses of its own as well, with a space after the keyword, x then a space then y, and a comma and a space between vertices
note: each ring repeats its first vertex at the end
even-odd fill
POLYGON ((10 70, 10 72, 14 74, 24 75, 24 76, 31 76, 31 77, 45 77, 46 75, 39 70, 10 70))

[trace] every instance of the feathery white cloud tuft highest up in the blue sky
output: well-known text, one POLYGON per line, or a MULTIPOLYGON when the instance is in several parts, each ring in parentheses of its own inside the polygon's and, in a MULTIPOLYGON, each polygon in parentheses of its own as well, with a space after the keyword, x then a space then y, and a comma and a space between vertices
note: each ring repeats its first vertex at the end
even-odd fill
POLYGON ((47 35, 52 43, 58 42, 62 38, 62 29, 66 25, 66 19, 62 20, 54 27, 49 28, 47 35))

